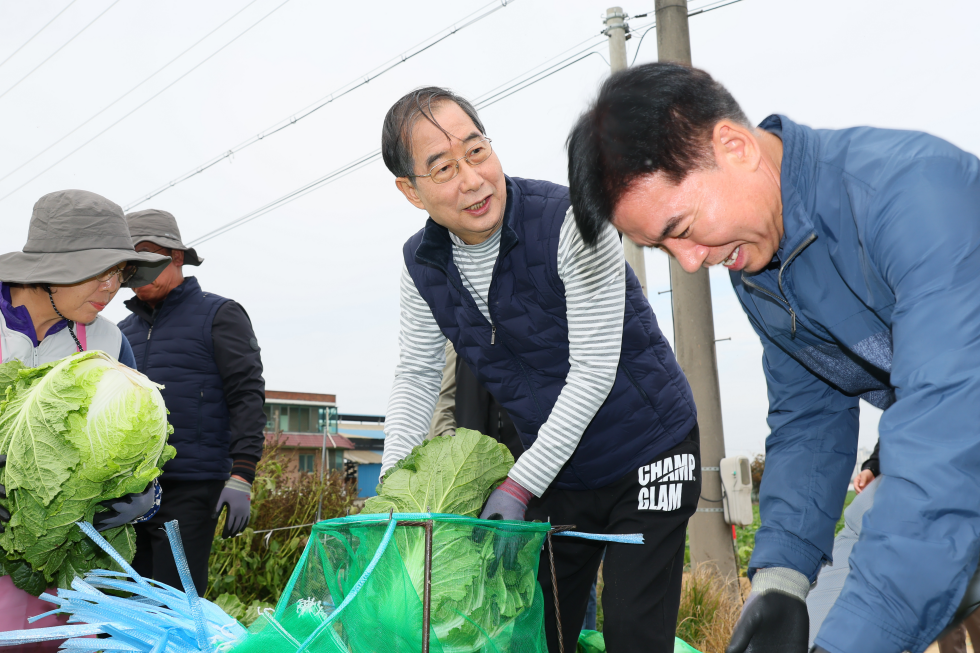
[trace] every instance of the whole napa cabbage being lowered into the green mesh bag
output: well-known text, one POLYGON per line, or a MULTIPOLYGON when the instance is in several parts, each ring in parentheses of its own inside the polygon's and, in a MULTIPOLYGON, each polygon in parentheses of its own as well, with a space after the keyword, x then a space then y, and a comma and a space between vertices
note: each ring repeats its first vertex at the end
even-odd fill
MULTIPOLYGON (((378 496, 365 502, 362 513, 433 512, 477 517, 513 465, 514 458, 505 445, 478 431, 457 429, 454 437, 428 440, 399 461, 378 486, 378 496)), ((522 524, 489 531, 479 526, 482 523, 437 521, 434 525, 433 630, 445 653, 489 650, 488 641, 499 646, 521 632, 530 639, 543 637, 541 608, 529 608, 541 596, 537 566, 548 527, 522 524)), ((419 528, 398 529, 394 543, 421 601, 424 532, 419 528)), ((377 612, 372 618, 378 623, 389 623, 404 608, 397 601, 378 601, 371 609, 377 612)), ((544 646, 543 639, 540 644, 544 646)))

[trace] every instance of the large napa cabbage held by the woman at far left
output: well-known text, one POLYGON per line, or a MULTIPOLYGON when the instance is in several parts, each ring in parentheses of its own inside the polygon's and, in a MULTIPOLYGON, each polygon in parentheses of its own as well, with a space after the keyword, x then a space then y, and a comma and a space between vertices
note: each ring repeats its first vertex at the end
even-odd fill
MULTIPOLYGON (((142 492, 173 458, 173 431, 160 386, 100 351, 36 368, 0 365, 0 484, 11 512, 0 534, 2 571, 39 594, 76 576, 112 568, 112 559, 75 525, 99 502, 142 492)), ((132 526, 104 533, 125 558, 132 526)))

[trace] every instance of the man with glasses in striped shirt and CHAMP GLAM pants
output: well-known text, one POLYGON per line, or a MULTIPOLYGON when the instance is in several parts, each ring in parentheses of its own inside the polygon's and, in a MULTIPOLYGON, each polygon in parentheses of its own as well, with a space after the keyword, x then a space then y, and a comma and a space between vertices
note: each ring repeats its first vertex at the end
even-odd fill
MULTIPOLYGON (((428 215, 403 248, 382 471, 428 432, 448 338, 507 410, 523 449, 481 517, 642 533, 642 545, 607 547, 606 644, 673 651, 684 536, 701 486, 697 412, 619 235, 609 225, 586 245, 568 189, 506 176, 476 110, 445 89, 418 89, 391 107, 382 154, 398 190, 428 215)), ((604 547, 557 539, 570 650, 604 547)), ((551 606, 547 563, 540 581, 551 606)), ((545 615, 557 652, 554 611, 545 615)))

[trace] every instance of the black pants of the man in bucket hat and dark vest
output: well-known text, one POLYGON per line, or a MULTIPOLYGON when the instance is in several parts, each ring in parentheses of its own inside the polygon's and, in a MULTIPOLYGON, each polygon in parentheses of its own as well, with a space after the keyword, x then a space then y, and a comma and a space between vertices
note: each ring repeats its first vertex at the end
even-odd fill
POLYGON ((136 524, 133 568, 141 576, 184 589, 177 573, 170 540, 163 525, 177 520, 187 565, 199 596, 208 588, 208 558, 218 520, 211 515, 218 505, 224 481, 168 481, 160 479, 160 510, 149 521, 136 524))

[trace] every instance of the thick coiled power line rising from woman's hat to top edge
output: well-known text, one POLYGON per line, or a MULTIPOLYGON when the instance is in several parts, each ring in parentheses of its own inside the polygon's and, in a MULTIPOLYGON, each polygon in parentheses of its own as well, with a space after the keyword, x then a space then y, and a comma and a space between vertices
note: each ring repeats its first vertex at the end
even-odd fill
POLYGON ((353 80, 351 82, 348 82, 347 84, 345 84, 344 86, 341 86, 339 89, 337 89, 333 93, 330 93, 329 95, 320 98, 319 100, 317 100, 313 104, 311 104, 311 105, 309 105, 309 106, 307 106, 307 107, 305 107, 303 109, 300 109, 299 111, 293 113, 288 118, 284 118, 283 120, 280 120, 279 122, 277 122, 276 124, 272 125, 271 127, 269 127, 267 129, 259 132, 255 136, 252 136, 251 138, 249 138, 249 139, 247 139, 247 140, 239 143, 238 145, 232 147, 231 149, 228 149, 225 152, 219 154, 218 156, 213 157, 213 158, 205 161, 204 163, 202 163, 202 164, 200 164, 198 166, 195 166, 193 169, 185 172, 184 174, 180 175, 179 177, 176 177, 176 178, 170 180, 168 183, 164 184, 163 186, 160 186, 159 188, 157 188, 157 189, 155 189, 153 191, 150 191, 149 193, 147 193, 146 195, 144 195, 140 199, 133 200, 132 202, 126 204, 125 210, 129 211, 129 210, 133 209, 134 207, 142 204, 143 202, 146 202, 146 201, 148 201, 148 200, 156 197, 157 195, 159 195, 159 194, 161 194, 161 193, 163 193, 163 192, 165 192, 165 191, 173 188, 177 184, 181 184, 181 183, 187 181, 188 179, 190 179, 192 177, 196 177, 197 175, 201 174, 205 170, 207 170, 207 169, 209 169, 211 167, 214 167, 218 163, 221 163, 225 159, 227 159, 227 158, 229 158, 229 157, 237 154, 238 152, 241 152, 245 148, 250 147, 250 146, 258 143, 259 141, 261 141, 261 140, 263 140, 265 138, 268 138, 269 136, 272 136, 273 134, 276 134, 276 133, 282 131, 283 129, 286 129, 287 127, 291 127, 291 126, 295 125, 297 122, 299 122, 299 121, 303 120, 304 118, 312 115, 316 111, 319 111, 320 109, 322 109, 323 107, 327 106, 328 104, 334 102, 335 100, 338 100, 338 99, 342 98, 343 96, 347 95, 348 93, 351 93, 352 91, 354 91, 354 90, 356 90, 356 89, 358 89, 358 88, 360 88, 360 87, 368 84, 369 82, 377 79, 381 75, 384 75, 388 71, 392 70, 393 68, 396 68, 397 66, 400 66, 401 64, 409 61, 410 59, 412 59, 412 58, 414 58, 414 57, 422 54, 423 52, 425 52, 429 48, 437 45, 438 43, 441 43, 442 41, 446 40, 450 36, 456 34, 458 31, 460 31, 460 30, 462 30, 462 29, 464 29, 466 27, 469 27, 470 25, 473 25, 474 23, 477 23, 477 22, 483 20, 487 16, 489 16, 489 15, 491 15, 491 14, 499 11, 500 9, 503 9, 507 5, 513 4, 515 1, 516 0, 493 0, 493 2, 490 2, 490 3, 488 3, 488 4, 486 4, 486 5, 482 6, 482 7, 480 7, 476 11, 473 11, 470 14, 467 14, 466 16, 464 16, 463 18, 461 18, 460 20, 458 20, 455 23, 453 23, 452 25, 450 25, 449 27, 447 27, 447 28, 445 28, 443 30, 440 30, 439 32, 436 32, 435 34, 433 34, 429 38, 427 38, 427 39, 425 39, 423 41, 420 41, 417 45, 409 48, 408 52, 410 52, 410 54, 401 54, 401 55, 398 55, 397 57, 394 57, 393 59, 390 59, 387 63, 382 64, 381 66, 378 66, 377 68, 374 68, 373 70, 369 71, 368 73, 366 73, 364 75, 359 76, 357 79, 355 79, 355 80, 353 80), (487 9, 487 7, 494 7, 494 8, 491 9, 491 10, 489 10, 489 11, 485 11, 487 9), (476 18, 472 18, 474 15, 479 14, 480 12, 484 12, 484 13, 480 14, 476 18), (466 21, 466 22, 464 22, 464 21, 466 21), (460 24, 460 23, 462 23, 462 24, 460 24), (412 52, 412 50, 414 50, 414 52, 412 52))

